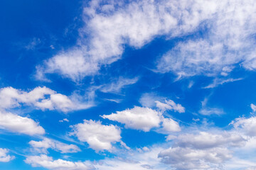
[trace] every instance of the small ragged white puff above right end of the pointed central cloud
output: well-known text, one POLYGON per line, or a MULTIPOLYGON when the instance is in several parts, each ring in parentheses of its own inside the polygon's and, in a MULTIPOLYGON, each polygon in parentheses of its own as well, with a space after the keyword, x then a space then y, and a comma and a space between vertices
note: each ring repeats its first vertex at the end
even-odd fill
POLYGON ((177 111, 178 113, 184 113, 185 108, 181 106, 181 104, 176 104, 172 100, 165 100, 165 103, 161 103, 160 101, 156 101, 156 107, 160 108, 161 111, 166 111, 166 110, 173 110, 177 111))

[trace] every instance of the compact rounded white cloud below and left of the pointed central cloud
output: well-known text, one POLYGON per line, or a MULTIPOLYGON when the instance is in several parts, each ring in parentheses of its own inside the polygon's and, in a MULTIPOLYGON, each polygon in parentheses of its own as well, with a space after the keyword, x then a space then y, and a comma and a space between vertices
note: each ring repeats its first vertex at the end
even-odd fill
POLYGON ((87 142, 90 148, 96 151, 111 151, 112 143, 121 142, 121 130, 114 125, 102 125, 100 121, 84 120, 84 123, 78 123, 71 128, 74 130, 72 135, 82 142, 87 142))

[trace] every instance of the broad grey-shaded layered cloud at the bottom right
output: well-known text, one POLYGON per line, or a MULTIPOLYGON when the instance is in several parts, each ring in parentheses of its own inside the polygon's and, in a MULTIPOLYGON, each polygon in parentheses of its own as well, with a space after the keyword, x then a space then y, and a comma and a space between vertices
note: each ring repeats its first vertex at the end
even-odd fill
POLYGON ((218 168, 233 156, 229 147, 241 147, 245 139, 235 132, 199 132, 174 138, 174 145, 159 152, 165 164, 176 169, 218 168))

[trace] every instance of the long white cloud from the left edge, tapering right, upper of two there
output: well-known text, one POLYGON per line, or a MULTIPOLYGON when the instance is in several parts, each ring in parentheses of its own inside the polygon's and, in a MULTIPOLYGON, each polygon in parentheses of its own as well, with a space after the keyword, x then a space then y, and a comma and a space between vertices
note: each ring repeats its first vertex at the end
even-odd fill
MULTIPOLYGON (((71 98, 74 99, 75 98, 71 98)), ((0 108, 14 108, 25 104, 41 110, 59 110, 63 112, 90 107, 90 105, 73 102, 68 96, 57 94, 46 87, 36 87, 26 92, 12 87, 0 90, 0 108)))

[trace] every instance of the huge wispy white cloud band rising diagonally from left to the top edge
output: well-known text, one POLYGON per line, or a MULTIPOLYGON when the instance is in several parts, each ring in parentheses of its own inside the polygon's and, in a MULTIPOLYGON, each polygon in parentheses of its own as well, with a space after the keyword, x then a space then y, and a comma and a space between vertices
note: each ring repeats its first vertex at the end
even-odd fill
POLYGON ((158 35, 176 37, 191 33, 215 13, 217 6, 215 1, 146 0, 124 4, 95 0, 89 4, 84 9, 86 24, 80 29, 79 47, 60 52, 38 67, 39 79, 45 79, 48 73, 58 73, 78 81, 97 74, 103 64, 120 58, 125 44, 139 48, 158 35))

